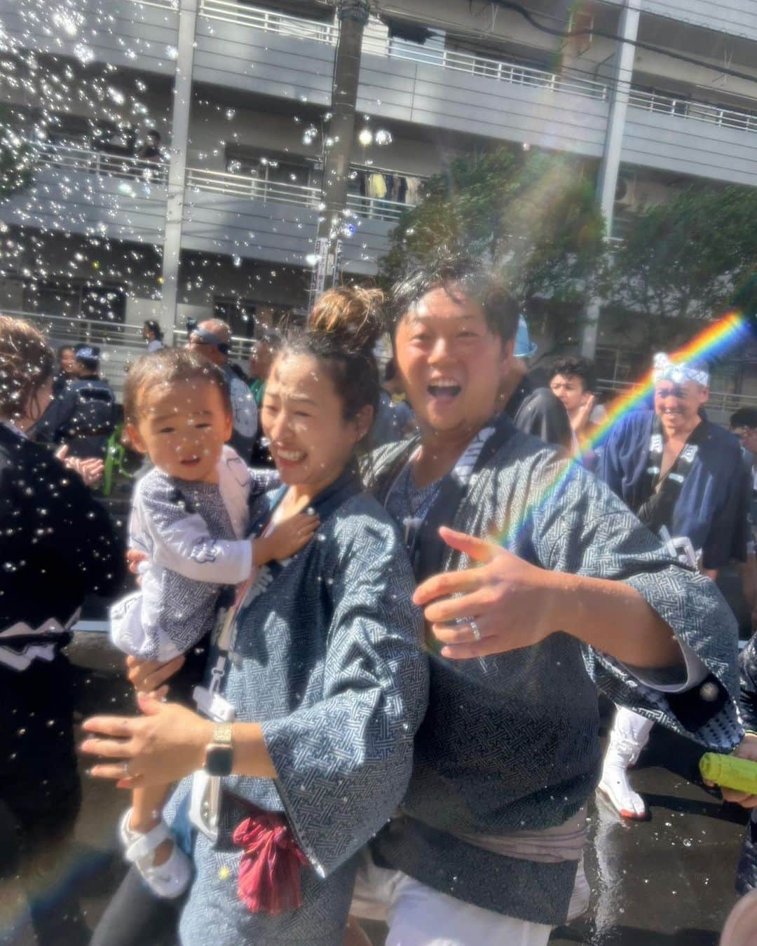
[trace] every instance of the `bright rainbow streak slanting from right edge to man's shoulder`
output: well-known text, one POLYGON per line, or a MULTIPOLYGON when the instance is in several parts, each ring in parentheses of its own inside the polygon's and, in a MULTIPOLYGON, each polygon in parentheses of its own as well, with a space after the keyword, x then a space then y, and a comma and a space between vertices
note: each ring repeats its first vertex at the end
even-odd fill
MULTIPOLYGON (((738 310, 731 310, 716 322, 708 324, 687 344, 678 348, 671 356, 671 361, 697 361, 713 359, 723 355, 726 351, 734 347, 739 342, 746 342, 749 336, 749 323, 744 314, 738 310)), ((522 518, 517 522, 511 522, 500 533, 492 536, 492 541, 500 545, 517 542, 519 535, 525 529, 527 523, 531 520, 534 512, 555 495, 570 478, 576 467, 582 465, 582 461, 591 450, 601 446, 607 439, 610 430, 626 414, 639 410, 640 405, 654 390, 655 382, 652 369, 644 375, 632 388, 624 394, 620 394, 610 404, 607 405, 607 416, 601 424, 592 430, 588 437, 581 440, 578 455, 573 457, 569 463, 557 464, 555 476, 545 482, 537 491, 536 495, 529 500, 522 518)))

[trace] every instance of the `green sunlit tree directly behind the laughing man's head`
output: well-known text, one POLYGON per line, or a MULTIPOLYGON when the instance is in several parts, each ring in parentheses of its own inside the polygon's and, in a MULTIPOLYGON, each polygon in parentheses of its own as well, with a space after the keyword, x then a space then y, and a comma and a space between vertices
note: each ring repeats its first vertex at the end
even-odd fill
POLYGON ((483 256, 524 311, 574 336, 604 256, 593 174, 577 159, 501 147, 452 160, 400 219, 380 261, 383 283, 441 247, 483 256))

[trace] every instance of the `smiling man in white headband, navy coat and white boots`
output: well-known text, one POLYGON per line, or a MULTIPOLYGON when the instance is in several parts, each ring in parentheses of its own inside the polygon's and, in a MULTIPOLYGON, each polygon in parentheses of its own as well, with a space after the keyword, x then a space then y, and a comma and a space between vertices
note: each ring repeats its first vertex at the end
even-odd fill
MULTIPOLYGON (((714 579, 731 559, 747 560, 748 482, 736 438, 702 412, 710 375, 701 364, 654 359, 654 411, 629 414, 610 431, 598 476, 667 543, 671 555, 714 579)), ((681 700, 712 700, 712 681, 693 652, 685 678, 660 677, 658 689, 681 700)), ((736 655, 733 655, 736 659, 736 655)), ((611 695, 611 694, 609 694, 611 695)), ((653 721, 619 707, 599 790, 625 818, 643 818, 643 798, 627 769, 653 721)))

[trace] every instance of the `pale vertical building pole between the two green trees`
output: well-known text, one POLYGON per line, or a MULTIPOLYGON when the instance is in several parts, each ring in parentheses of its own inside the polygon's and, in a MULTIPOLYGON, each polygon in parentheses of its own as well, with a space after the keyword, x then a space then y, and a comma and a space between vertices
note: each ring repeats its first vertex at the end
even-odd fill
MULTIPOLYGON (((621 13, 618 34, 621 40, 615 51, 612 75, 609 82, 609 115, 605 135, 605 151, 599 166, 597 201, 605 218, 607 236, 612 230, 612 214, 615 210, 615 194, 618 188, 618 171, 621 166, 621 151, 625 133, 625 114, 628 111, 628 94, 633 79, 633 62, 636 46, 633 43, 639 34, 641 0, 625 0, 621 13)), ((586 321, 581 331, 581 354, 593 359, 597 347, 597 329, 602 303, 594 297, 586 310, 586 321)))

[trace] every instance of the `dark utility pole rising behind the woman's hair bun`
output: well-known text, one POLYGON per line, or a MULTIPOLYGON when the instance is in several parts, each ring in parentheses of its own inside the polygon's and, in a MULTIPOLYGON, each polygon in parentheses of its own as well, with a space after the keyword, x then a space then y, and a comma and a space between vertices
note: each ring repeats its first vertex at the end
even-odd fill
POLYGON ((355 105, 361 71, 362 31, 368 22, 368 0, 337 0, 339 38, 331 87, 331 119, 324 149, 324 209, 318 220, 310 301, 339 279, 340 237, 355 138, 355 105))

